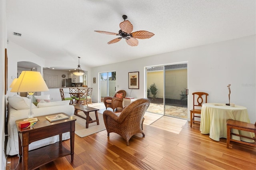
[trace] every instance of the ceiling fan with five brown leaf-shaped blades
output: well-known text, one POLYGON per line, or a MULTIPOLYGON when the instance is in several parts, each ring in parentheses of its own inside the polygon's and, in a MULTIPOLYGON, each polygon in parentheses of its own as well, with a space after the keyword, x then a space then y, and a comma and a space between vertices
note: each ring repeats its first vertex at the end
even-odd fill
POLYGON ((105 32, 105 31, 95 31, 95 32, 102 33, 102 34, 121 36, 121 37, 115 38, 114 40, 111 40, 110 42, 108 42, 108 44, 119 42, 122 38, 124 38, 126 40, 126 43, 128 43, 128 45, 131 45, 131 46, 138 45, 139 42, 136 38, 146 39, 146 38, 151 38, 152 36, 155 35, 152 32, 148 32, 148 31, 132 32, 133 26, 130 23, 130 21, 126 20, 127 16, 123 15, 123 19, 124 19, 124 21, 119 24, 119 27, 121 28, 121 30, 119 30, 118 33, 105 32))

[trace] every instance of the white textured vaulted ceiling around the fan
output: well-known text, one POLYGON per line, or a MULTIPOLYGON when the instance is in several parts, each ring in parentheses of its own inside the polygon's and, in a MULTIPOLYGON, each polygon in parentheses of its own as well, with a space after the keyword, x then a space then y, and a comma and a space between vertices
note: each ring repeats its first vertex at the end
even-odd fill
POLYGON ((45 67, 95 67, 255 34, 255 0, 7 0, 8 39, 46 59, 45 67), (155 35, 131 47, 116 32, 155 35), (13 32, 22 34, 14 36, 13 32))

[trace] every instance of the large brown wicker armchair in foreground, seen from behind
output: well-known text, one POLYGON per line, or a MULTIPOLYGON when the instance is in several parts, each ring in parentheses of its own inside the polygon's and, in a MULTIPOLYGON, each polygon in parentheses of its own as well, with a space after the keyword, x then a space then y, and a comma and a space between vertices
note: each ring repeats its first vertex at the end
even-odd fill
POLYGON ((138 99, 125 107, 121 113, 114 113, 106 110, 103 112, 103 119, 108 132, 115 132, 126 140, 129 146, 130 138, 136 133, 142 133, 143 116, 150 105, 148 99, 138 99))

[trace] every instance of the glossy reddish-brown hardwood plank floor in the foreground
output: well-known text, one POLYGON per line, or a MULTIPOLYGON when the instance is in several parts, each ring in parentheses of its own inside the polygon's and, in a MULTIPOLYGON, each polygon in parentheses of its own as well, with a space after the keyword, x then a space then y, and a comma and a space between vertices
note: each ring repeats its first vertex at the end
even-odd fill
MULTIPOLYGON (((177 119, 177 122, 180 119, 177 119)), ((184 120, 182 120, 184 121, 184 120)), ((74 161, 66 156, 45 164, 38 170, 87 170, 87 169, 256 169, 256 147, 231 142, 226 148, 226 139, 219 142, 201 134, 200 125, 190 128, 187 122, 179 134, 144 125, 145 137, 136 134, 130 146, 116 133, 107 136, 106 130, 80 138, 75 135, 74 161)), ((171 128, 171 126, 166 126, 171 128)), ((70 141, 63 142, 69 148, 70 141)), ((11 169, 18 164, 18 157, 8 157, 11 169)), ((22 169, 18 164, 16 169, 22 169)), ((9 167, 6 167, 8 170, 9 167)))

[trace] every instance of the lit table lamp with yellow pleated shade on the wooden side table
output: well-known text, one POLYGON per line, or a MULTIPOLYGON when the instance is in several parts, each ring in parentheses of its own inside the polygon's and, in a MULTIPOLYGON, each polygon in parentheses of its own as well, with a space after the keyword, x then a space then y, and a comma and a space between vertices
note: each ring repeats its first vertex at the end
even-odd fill
POLYGON ((35 92, 49 91, 40 72, 22 71, 11 92, 28 92, 30 99, 30 110, 28 111, 28 121, 33 121, 32 99, 35 92))

